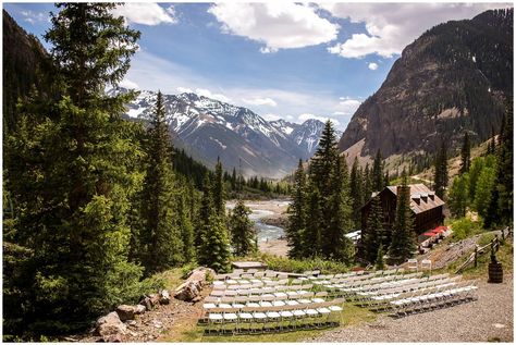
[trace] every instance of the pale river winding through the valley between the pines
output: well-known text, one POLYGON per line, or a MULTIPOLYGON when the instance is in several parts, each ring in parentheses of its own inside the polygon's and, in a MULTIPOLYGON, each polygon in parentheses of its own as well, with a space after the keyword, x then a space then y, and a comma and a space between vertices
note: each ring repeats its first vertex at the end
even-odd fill
MULTIPOLYGON (((283 227, 265 224, 261 222, 261 219, 280 217, 286 211, 290 201, 272 199, 263 201, 244 201, 244 204, 253 211, 253 213, 249 214, 249 219, 255 222, 259 243, 278 239, 284 235, 285 231, 283 227)), ((235 201, 228 201, 225 207, 226 209, 232 210, 235 207, 235 201)))

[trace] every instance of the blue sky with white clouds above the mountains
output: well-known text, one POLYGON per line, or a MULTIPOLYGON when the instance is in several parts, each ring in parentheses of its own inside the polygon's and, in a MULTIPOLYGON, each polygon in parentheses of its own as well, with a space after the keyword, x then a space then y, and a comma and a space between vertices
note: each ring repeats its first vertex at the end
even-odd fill
MULTIPOLYGON (((344 130, 426 29, 470 19, 486 3, 127 3, 115 11, 142 32, 122 83, 195 91, 267 120, 332 119, 344 130)), ((51 3, 4 3, 41 38, 51 3)), ((46 45, 47 48, 48 45, 46 45)))

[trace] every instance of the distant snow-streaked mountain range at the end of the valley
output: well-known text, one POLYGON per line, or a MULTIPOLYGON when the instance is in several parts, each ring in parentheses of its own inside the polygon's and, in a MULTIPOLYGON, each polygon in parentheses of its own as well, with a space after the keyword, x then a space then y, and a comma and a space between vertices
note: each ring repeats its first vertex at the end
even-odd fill
MULTIPOLYGON (((314 155, 324 126, 311 119, 303 124, 269 122, 247 108, 191 93, 163 95, 163 100, 175 146, 207 165, 220 157, 225 169, 242 168, 245 175, 282 177, 291 173, 299 158, 314 155)), ((126 115, 145 121, 155 104, 156 93, 143 90, 127 104, 126 115)))

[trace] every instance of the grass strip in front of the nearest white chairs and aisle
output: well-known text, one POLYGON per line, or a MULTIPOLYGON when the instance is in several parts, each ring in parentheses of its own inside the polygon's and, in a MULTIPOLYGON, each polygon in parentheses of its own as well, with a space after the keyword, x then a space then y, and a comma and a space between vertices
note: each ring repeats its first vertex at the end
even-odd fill
MULTIPOLYGON (((340 315, 341 326, 348 326, 360 322, 369 322, 377 318, 376 313, 366 308, 354 306, 351 303, 342 305, 343 311, 340 315)), ((294 343, 303 342, 315 337, 325 330, 303 330, 296 332, 254 334, 254 335, 204 335, 205 328, 192 324, 185 328, 180 334, 173 337, 164 336, 163 342, 202 342, 202 343, 294 343)), ((161 340, 160 340, 161 341, 161 340)))

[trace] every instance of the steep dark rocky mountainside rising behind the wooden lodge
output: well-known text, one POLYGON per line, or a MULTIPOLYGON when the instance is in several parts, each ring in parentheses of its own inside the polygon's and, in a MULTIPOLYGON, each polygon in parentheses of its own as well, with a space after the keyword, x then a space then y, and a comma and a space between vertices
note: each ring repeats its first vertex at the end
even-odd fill
POLYGON ((478 143, 500 126, 512 94, 512 9, 441 24, 404 49, 339 146, 363 157, 432 152, 441 139, 457 147, 464 131, 478 143))

